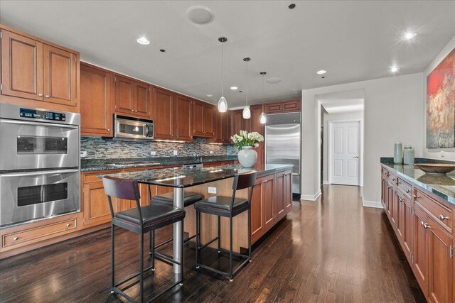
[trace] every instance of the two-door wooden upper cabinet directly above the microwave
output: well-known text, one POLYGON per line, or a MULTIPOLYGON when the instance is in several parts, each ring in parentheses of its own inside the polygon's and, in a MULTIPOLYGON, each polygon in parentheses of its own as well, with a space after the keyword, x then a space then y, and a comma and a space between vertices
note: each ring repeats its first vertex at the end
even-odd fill
POLYGON ((151 118, 151 86, 120 75, 114 76, 116 114, 151 118))

